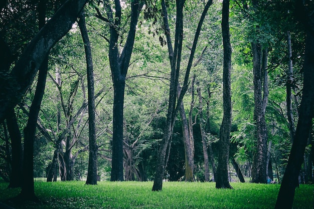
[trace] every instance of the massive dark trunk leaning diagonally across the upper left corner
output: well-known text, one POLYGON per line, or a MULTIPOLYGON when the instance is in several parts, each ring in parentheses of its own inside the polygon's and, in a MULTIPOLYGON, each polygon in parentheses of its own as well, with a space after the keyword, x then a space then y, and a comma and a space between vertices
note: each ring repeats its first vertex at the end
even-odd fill
POLYGON ((10 76, 0 84, 0 121, 21 101, 50 49, 71 29, 86 2, 69 0, 64 3, 28 44, 10 76))

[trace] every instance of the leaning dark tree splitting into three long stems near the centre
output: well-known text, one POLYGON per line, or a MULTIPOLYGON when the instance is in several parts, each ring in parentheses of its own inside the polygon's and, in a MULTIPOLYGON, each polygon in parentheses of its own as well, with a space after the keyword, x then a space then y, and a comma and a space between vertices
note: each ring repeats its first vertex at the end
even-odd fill
POLYGON ((154 176, 154 183, 152 186, 152 191, 160 191, 163 188, 163 176, 165 172, 165 167, 167 165, 170 146, 171 146, 171 135, 173 132, 173 128, 175 125, 175 119, 177 113, 180 108, 180 104, 183 100, 183 97, 188 89, 188 79, 190 75, 190 70, 192 67, 192 62, 194 59, 194 54, 196 50, 196 45, 198 42, 198 38, 201 32, 202 24, 206 13, 209 7, 212 5, 212 1, 208 1, 205 9, 203 10, 201 19, 198 23, 198 27, 195 33, 193 46, 191 49, 191 54, 188 62, 188 66, 186 69, 184 84, 181 89, 180 96, 177 98, 177 88, 178 88, 178 80, 179 80, 179 73, 180 73, 180 65, 181 65, 181 53, 182 53, 182 41, 183 41, 183 8, 184 8, 185 1, 180 0, 177 1, 176 7, 176 32, 175 32, 175 45, 174 48, 172 46, 170 28, 168 23, 168 12, 166 3, 162 1, 162 10, 163 10, 163 21, 164 21, 164 29, 167 38, 167 46, 169 52, 169 59, 170 59, 170 66, 171 66, 171 78, 170 78, 170 92, 169 92, 169 104, 168 104, 168 113, 167 113, 167 121, 165 132, 163 136, 163 140, 161 143, 161 147, 159 149, 157 165, 156 165, 156 172, 154 176), (176 105, 177 103, 177 105, 176 105))

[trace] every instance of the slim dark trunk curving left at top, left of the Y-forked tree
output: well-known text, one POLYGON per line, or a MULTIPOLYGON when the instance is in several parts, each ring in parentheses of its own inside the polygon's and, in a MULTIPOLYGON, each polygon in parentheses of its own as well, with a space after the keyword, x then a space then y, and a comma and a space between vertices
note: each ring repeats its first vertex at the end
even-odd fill
POLYGON ((97 144, 95 125, 95 91, 94 73, 90 42, 85 23, 85 14, 80 15, 79 27, 84 42, 87 70, 87 90, 88 90, 88 130, 89 130, 89 160, 86 184, 97 184, 97 144))

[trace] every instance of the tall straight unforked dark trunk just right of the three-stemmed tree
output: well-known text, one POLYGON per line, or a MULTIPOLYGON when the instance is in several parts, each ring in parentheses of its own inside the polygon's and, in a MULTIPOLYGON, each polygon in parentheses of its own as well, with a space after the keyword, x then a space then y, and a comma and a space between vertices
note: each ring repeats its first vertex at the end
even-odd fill
POLYGON ((229 0, 222 2, 222 36, 224 46, 223 106, 224 116, 220 126, 216 188, 232 188, 228 178, 229 144, 231 131, 231 44, 229 33, 229 0))

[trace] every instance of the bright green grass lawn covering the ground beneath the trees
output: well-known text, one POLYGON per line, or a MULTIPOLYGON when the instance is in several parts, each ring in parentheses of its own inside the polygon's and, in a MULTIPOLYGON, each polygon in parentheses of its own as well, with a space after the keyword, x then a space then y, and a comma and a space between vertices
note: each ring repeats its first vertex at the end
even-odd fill
MULTIPOLYGON (((108 182, 85 185, 84 181, 35 182, 40 202, 23 205, 7 202, 15 208, 273 208, 278 184, 232 183, 234 189, 216 189, 215 183, 164 182, 163 190, 152 192, 152 182, 108 182)), ((0 183, 0 201, 19 194, 0 183)), ((293 208, 313 205, 314 185, 296 189, 293 208)))

